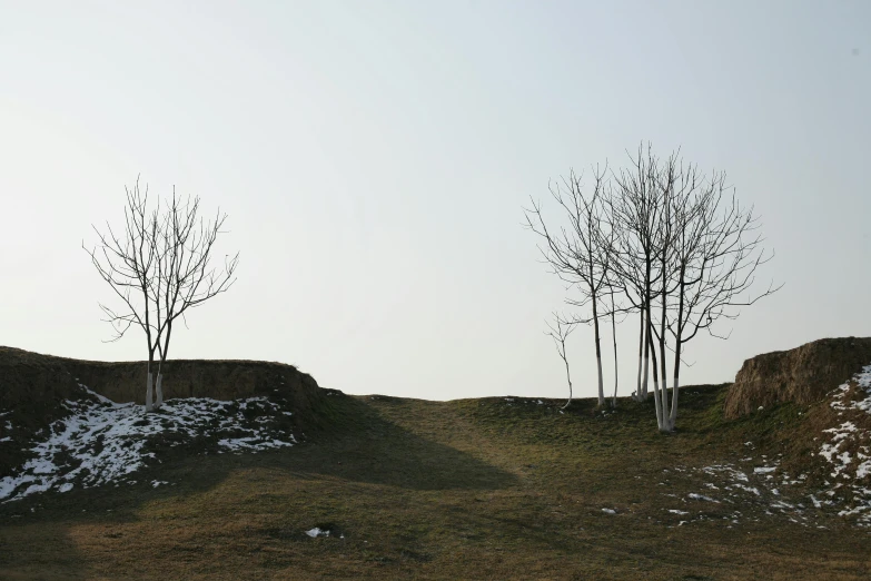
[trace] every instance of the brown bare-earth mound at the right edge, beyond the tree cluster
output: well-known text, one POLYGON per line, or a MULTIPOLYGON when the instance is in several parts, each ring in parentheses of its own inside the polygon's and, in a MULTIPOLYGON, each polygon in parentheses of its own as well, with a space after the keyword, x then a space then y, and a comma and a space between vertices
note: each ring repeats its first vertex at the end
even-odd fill
POLYGON ((744 362, 725 397, 730 420, 781 402, 810 404, 871 364, 871 337, 824 338, 744 362))

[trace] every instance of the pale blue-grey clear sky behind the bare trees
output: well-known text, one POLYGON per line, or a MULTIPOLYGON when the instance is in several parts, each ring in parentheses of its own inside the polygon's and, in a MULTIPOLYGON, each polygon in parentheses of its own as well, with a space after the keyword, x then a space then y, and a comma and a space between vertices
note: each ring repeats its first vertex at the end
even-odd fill
MULTIPOLYGON (((650 141, 761 217, 772 297, 685 346, 682 384, 871 335, 871 3, 0 0, 0 345, 97 361, 113 303, 82 244, 125 186, 228 215, 232 288, 170 358, 295 364, 326 387, 564 397, 564 309, 523 207, 650 141)), ((634 388, 636 322, 617 327, 634 388)), ((603 343, 610 345, 606 333, 603 343)), ((610 347, 608 347, 610 348, 610 347)), ((606 349, 606 354, 610 352, 606 349)), ((596 391, 593 333, 568 342, 596 391)), ((613 358, 605 356, 613 388, 613 358)), ((171 381, 171 378, 167 378, 171 381)))

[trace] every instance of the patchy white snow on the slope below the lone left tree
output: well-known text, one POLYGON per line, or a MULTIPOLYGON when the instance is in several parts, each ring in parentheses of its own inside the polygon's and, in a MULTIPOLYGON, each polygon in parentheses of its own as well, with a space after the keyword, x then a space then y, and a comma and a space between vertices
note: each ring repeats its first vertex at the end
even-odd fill
MULTIPOLYGON (((217 441, 218 453, 257 452, 291 446, 293 434, 276 424, 279 405, 266 397, 220 402, 207 397, 169 400, 157 413, 136 404, 116 404, 82 386, 96 401, 63 402, 69 415, 31 442, 33 457, 0 479, 0 502, 37 492, 68 492, 125 481, 156 457, 147 443, 188 445, 217 441), (226 437, 221 437, 226 436, 226 437)), ((154 481, 158 486, 165 482, 154 481)))

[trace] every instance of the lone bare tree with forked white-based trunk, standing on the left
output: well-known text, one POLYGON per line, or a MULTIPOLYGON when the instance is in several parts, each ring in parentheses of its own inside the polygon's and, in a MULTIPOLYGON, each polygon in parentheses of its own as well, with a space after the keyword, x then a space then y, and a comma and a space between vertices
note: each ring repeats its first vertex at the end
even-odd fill
POLYGON ((125 229, 117 235, 107 221, 106 232, 96 226, 99 243, 88 249, 100 277, 111 286, 123 307, 116 311, 100 304, 119 341, 131 326, 145 332, 148 347, 146 381, 146 411, 160 407, 164 401, 162 366, 169 353, 169 341, 176 319, 185 317, 192 307, 229 289, 236 280, 238 253, 228 258, 217 270, 211 266, 211 254, 218 234, 221 234, 227 215, 215 216, 206 221, 199 217, 199 197, 184 201, 176 196, 165 211, 160 211, 158 199, 152 210, 148 209, 148 186, 139 189, 139 178, 132 189, 125 187, 125 229), (154 384, 152 367, 157 353, 157 383, 154 384), (157 403, 154 390, 157 391, 157 403))

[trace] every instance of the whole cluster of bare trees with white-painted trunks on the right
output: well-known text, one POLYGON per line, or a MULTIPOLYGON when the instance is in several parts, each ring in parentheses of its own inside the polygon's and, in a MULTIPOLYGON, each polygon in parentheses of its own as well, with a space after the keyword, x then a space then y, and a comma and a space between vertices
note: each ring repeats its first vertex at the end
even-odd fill
POLYGON ((582 315, 557 316, 561 357, 566 361, 563 329, 592 323, 598 404, 604 405, 600 319, 610 317, 615 333, 617 315, 637 315, 633 396, 649 397, 652 371, 656 422, 661 431, 672 432, 684 344, 700 331, 719 336, 713 331, 717 321, 735 318, 739 307, 780 287, 770 284, 752 293, 758 268, 772 255, 762 247, 753 208, 741 206, 725 184, 725 174, 705 176, 677 152, 661 159, 650 145, 642 145, 630 159, 628 167, 618 171, 594 168, 590 188, 582 176, 570 173, 551 186, 563 225, 546 221, 542 205, 533 200, 525 210, 526 226, 540 236, 546 264, 580 295, 566 303, 588 307, 582 315))

